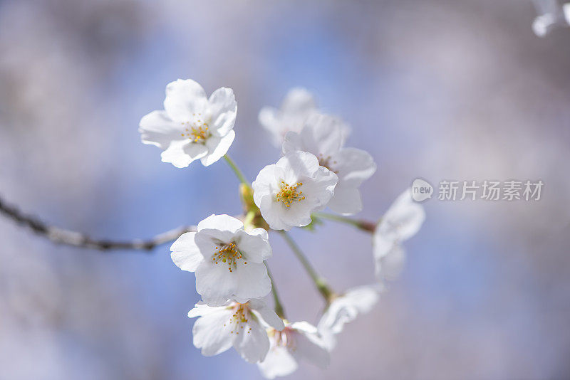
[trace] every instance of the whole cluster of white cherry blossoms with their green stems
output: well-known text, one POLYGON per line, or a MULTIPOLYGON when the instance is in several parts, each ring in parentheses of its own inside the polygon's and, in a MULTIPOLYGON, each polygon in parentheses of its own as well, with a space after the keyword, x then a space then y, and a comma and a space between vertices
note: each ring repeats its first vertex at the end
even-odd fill
POLYGON ((249 184, 227 157, 236 116, 231 89, 219 88, 207 97, 195 81, 177 80, 166 87, 164 110, 140 120, 142 142, 160 147, 162 162, 183 168, 200 159, 209 166, 224 157, 242 181, 244 216, 209 216, 170 248, 175 265, 195 273, 202 296, 188 313, 198 317, 193 342, 205 356, 234 347, 246 361, 257 363, 267 379, 291 374, 299 361, 325 368, 343 325, 371 310, 385 282, 400 272, 405 259, 401 244, 418 232, 423 207, 408 189, 377 225, 364 228, 349 219, 363 209, 359 187, 374 174, 375 162, 367 152, 345 147, 348 126, 318 110, 311 93, 301 88, 291 90, 281 108, 259 112, 260 124, 283 157, 249 184), (324 218, 318 211, 327 207, 337 213, 326 214, 328 218, 373 233, 378 283, 337 293, 308 270, 325 310, 316 325, 290 322, 266 267, 272 255, 268 231, 286 235, 293 227, 309 226, 324 218), (263 300, 270 292, 274 309, 263 300))

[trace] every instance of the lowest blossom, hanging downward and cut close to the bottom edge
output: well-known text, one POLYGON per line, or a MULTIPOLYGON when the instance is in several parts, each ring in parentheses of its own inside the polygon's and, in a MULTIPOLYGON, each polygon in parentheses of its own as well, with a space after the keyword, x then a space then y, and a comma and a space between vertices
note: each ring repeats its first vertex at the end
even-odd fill
POLYGON ((286 376, 296 371, 298 361, 305 360, 326 369, 330 355, 318 335, 316 327, 309 322, 286 322, 283 331, 268 329, 271 348, 264 361, 257 366, 266 379, 286 376))

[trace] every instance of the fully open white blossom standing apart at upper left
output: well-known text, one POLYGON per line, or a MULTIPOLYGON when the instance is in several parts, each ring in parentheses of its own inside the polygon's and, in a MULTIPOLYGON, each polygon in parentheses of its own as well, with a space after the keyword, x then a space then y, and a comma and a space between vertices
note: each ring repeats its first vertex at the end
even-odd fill
POLYGON ((142 142, 162 149, 162 162, 183 168, 200 159, 207 167, 226 154, 237 114, 231 88, 218 88, 208 98, 194 80, 179 79, 166 86, 164 106, 139 125, 142 142))

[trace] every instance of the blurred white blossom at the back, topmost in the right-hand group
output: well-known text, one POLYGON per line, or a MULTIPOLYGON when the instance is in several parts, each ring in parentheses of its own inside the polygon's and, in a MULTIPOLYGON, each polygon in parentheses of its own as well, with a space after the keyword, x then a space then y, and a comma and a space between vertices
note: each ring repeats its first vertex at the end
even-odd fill
POLYGON ((304 88, 292 88, 287 93, 281 109, 263 107, 259 111, 259 123, 271 133, 276 147, 281 147, 289 131, 301 132, 309 115, 317 111, 314 97, 304 88))

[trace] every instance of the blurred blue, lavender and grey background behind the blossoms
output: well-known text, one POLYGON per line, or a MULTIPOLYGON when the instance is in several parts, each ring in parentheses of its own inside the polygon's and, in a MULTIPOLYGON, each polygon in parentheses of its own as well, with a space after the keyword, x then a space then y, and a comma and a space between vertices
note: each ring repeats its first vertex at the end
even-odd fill
MULTIPOLYGON (((304 86, 373 154, 362 218, 413 179, 541 179, 540 201, 437 201, 378 307, 321 371, 291 379, 570 378, 570 29, 538 38, 527 0, 0 1, 0 194, 57 226, 147 238, 239 213, 224 162, 176 169, 140 143, 165 85, 234 89, 229 154, 279 158, 257 113, 304 86), (224 184, 224 186, 220 186, 224 184)), ((374 282, 371 237, 293 231, 336 290, 374 282)), ((152 254, 53 246, 0 218, 0 379, 260 379, 202 357, 195 278, 152 254)), ((291 320, 318 294, 279 236, 291 320)))

